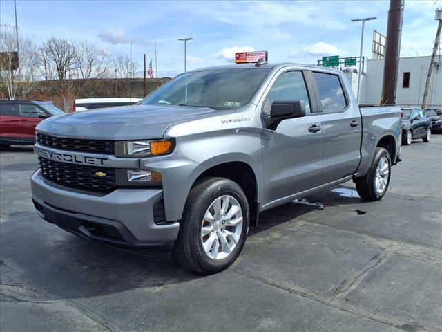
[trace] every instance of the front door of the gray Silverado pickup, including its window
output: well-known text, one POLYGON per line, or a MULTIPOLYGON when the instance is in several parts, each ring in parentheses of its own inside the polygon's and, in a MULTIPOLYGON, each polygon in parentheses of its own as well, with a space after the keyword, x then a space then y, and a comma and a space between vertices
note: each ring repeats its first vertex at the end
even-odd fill
POLYGON ((276 79, 262 109, 265 114, 270 113, 275 100, 302 100, 307 116, 283 120, 274 131, 263 129, 262 205, 316 187, 322 172, 322 115, 312 112, 316 107, 307 93, 304 73, 287 71, 276 79))

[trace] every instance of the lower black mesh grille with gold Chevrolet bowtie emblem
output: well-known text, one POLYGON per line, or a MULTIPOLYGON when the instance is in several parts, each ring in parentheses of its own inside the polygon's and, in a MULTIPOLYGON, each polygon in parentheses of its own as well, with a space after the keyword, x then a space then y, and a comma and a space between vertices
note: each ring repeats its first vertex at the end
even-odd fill
POLYGON ((39 164, 44 178, 66 187, 89 192, 111 192, 117 187, 115 169, 60 163, 42 157, 39 164))

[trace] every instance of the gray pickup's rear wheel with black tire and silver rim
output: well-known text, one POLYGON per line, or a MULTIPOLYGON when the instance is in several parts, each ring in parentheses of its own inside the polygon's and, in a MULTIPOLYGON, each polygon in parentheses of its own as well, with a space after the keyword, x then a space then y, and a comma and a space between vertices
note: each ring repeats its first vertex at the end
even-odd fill
POLYGON ((382 199, 390 184, 391 169, 392 159, 388 151, 383 147, 376 147, 369 171, 365 176, 357 178, 355 181, 356 190, 361 199, 365 201, 379 201, 382 199), (380 170, 379 168, 385 165, 383 163, 386 163, 386 168, 382 167, 383 170, 380 170))

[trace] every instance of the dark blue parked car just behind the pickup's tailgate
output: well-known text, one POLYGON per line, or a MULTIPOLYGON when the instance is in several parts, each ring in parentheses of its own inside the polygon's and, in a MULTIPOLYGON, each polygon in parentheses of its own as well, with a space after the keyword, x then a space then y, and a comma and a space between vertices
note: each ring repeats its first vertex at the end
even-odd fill
POLYGON ((430 142, 431 121, 425 116, 423 109, 403 108, 402 114, 402 144, 410 145, 412 140, 419 138, 424 142, 430 142))

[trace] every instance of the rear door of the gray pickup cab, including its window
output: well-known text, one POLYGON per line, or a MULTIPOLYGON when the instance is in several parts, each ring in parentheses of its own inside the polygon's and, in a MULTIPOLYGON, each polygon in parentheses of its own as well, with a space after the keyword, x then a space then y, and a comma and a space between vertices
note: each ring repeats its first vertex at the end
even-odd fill
POLYGON ((323 174, 320 184, 354 174, 361 159, 362 123, 339 75, 313 73, 323 113, 323 174))

